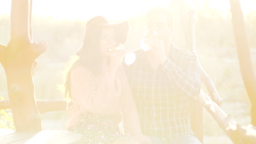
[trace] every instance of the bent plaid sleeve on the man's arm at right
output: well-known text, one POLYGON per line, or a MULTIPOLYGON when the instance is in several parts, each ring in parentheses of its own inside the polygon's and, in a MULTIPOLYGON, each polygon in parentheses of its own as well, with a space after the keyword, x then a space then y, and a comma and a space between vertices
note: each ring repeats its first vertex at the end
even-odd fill
POLYGON ((173 62, 166 59, 163 68, 166 75, 174 81, 179 93, 185 97, 197 99, 201 87, 200 64, 190 52, 178 52, 173 62))

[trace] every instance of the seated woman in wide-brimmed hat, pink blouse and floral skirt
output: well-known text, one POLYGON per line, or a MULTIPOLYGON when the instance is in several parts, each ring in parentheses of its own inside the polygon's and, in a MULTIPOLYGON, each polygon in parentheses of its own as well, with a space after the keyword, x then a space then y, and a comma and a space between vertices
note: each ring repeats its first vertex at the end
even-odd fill
POLYGON ((119 133, 123 114, 125 134, 139 142, 143 136, 135 103, 124 70, 120 66, 125 50, 112 51, 127 39, 127 22, 108 23, 96 16, 86 23, 84 43, 65 82, 65 95, 79 107, 68 119, 67 130, 84 135, 85 143, 136 143, 119 133))

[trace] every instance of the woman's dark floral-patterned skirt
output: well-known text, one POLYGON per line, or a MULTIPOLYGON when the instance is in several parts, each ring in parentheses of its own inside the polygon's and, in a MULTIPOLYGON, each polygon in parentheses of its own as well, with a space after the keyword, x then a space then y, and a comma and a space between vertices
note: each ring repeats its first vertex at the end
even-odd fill
POLYGON ((118 124, 120 116, 97 116, 93 113, 83 113, 75 127, 69 129, 84 135, 86 144, 109 144, 119 137, 118 124))

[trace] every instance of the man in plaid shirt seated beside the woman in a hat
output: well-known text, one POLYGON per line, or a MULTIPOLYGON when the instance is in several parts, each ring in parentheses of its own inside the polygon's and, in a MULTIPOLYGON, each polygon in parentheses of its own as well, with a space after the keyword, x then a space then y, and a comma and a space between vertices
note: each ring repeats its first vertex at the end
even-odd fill
POLYGON ((158 34, 151 40, 153 48, 138 51, 136 62, 124 65, 143 134, 153 144, 201 143, 189 118, 189 102, 201 87, 197 57, 172 45, 173 20, 167 9, 149 10, 146 29, 158 34))

